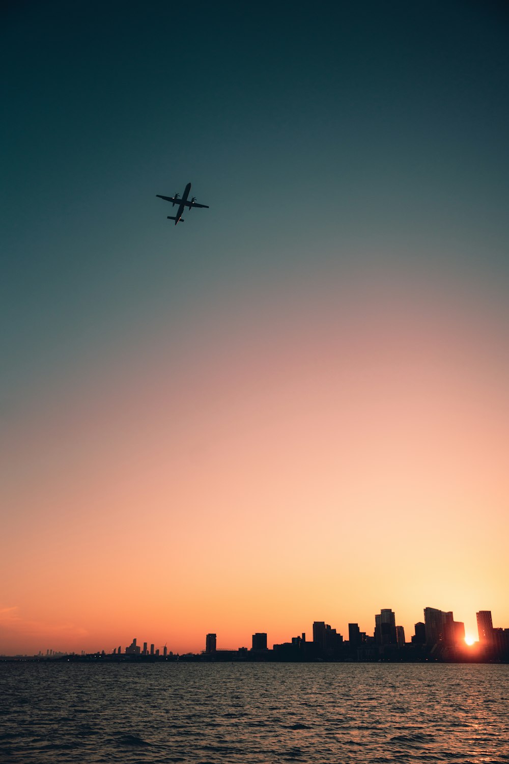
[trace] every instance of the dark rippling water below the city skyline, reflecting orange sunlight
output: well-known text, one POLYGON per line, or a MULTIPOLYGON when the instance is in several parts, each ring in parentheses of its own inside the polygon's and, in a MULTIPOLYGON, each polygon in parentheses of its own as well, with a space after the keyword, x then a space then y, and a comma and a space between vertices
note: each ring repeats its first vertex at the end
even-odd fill
POLYGON ((0 761, 509 762, 509 665, 0 663, 0 761))

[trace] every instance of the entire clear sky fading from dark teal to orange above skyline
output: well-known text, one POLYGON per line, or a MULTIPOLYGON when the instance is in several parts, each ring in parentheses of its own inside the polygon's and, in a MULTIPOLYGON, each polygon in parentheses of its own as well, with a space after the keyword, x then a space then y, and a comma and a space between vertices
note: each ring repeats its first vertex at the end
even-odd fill
POLYGON ((0 653, 509 626, 507 4, 0 35, 0 653))

